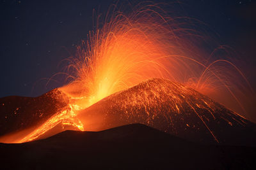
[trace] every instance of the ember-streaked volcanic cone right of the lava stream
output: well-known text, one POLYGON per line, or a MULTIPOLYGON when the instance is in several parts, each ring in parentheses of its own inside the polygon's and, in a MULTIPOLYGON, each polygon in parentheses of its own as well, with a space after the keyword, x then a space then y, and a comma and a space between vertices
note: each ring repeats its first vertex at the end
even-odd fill
POLYGON ((255 124, 196 90, 160 78, 108 96, 78 117, 88 131, 140 123, 200 143, 256 143, 255 124))

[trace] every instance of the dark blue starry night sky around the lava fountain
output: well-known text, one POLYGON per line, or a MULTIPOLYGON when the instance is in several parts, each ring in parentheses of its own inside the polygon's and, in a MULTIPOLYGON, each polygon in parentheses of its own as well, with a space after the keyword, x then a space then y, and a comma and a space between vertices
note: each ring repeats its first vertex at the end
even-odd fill
MULTIPOLYGON (((132 1, 132 3, 138 1, 132 1)), ((166 2, 166 1, 162 1, 166 2)), ((243 59, 243 72, 256 87, 256 2, 180 1, 188 17, 197 18, 232 46, 243 59)), ((0 3, 0 97, 39 96, 64 85, 61 60, 93 29, 93 9, 106 13, 115 1, 12 1, 0 3)))

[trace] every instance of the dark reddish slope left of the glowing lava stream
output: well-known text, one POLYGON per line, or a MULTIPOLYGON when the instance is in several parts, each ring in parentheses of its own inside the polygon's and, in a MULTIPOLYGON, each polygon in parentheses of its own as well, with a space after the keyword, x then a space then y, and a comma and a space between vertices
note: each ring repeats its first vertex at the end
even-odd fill
POLYGON ((0 136, 42 124, 67 106, 60 90, 39 97, 8 96, 0 98, 0 136))

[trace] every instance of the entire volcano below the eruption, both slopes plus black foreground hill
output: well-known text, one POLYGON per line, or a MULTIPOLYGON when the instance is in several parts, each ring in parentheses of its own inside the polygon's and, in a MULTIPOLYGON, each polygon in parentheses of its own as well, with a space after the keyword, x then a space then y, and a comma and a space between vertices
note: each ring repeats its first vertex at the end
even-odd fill
POLYGON ((255 169, 255 124, 170 80, 145 80, 76 114, 61 89, 0 102, 1 142, 51 127, 35 141, 0 143, 3 169, 255 169), (74 117, 86 132, 67 124, 74 117))

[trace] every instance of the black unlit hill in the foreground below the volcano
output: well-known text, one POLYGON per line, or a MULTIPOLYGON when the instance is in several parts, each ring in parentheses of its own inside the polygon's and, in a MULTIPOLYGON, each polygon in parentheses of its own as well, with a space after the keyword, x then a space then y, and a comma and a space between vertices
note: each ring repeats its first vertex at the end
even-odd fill
POLYGON ((1 144, 1 169, 255 169, 256 149, 200 145, 141 124, 1 144))

